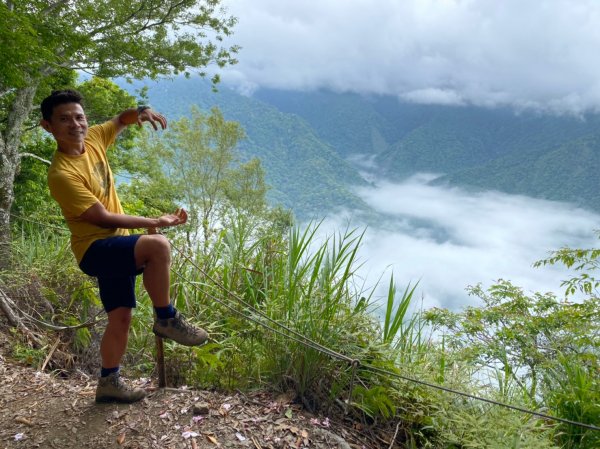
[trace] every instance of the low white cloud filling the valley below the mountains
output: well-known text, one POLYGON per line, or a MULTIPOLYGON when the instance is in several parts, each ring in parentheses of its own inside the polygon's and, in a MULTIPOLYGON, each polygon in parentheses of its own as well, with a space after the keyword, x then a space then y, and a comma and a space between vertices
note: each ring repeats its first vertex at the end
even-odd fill
MULTIPOLYGON (((379 225, 367 228, 360 251, 360 273, 369 284, 393 271, 400 288, 420 280, 426 307, 453 309, 477 303, 467 286, 487 287, 500 278, 526 292, 562 294, 566 269, 532 264, 564 246, 597 246, 597 214, 524 196, 430 186, 428 179, 420 175, 359 190, 381 214, 379 225)), ((324 230, 344 223, 345 218, 331 219, 324 230)), ((351 225, 364 226, 356 219, 351 225)))

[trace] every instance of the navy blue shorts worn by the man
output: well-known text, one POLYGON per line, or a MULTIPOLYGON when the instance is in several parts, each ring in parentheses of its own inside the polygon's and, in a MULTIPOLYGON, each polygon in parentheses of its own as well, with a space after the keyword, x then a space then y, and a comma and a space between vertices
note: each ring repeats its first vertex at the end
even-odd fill
POLYGON ((79 268, 98 278, 104 310, 135 307, 135 277, 144 269, 135 266, 134 248, 141 235, 96 240, 83 255, 79 268))

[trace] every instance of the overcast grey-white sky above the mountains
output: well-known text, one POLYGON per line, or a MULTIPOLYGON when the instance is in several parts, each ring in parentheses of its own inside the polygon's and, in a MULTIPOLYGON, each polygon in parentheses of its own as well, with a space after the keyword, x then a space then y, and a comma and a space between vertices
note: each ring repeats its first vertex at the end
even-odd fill
POLYGON ((598 0, 224 0, 259 86, 425 103, 600 110, 598 0))

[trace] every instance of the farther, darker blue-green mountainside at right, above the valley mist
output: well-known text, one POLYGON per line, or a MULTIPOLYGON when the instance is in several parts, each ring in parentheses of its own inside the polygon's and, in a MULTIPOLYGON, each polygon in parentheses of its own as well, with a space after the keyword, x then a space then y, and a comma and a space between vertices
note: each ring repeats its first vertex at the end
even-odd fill
POLYGON ((393 97, 262 90, 257 98, 309 122, 344 156, 371 155, 377 174, 570 201, 600 210, 600 116, 414 105, 393 97))

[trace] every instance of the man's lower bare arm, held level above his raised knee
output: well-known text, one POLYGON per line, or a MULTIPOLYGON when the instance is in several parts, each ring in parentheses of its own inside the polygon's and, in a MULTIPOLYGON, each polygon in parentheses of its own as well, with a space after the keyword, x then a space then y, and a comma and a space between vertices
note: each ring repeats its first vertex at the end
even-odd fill
POLYGON ((178 209, 174 214, 163 215, 160 218, 136 217, 109 212, 102 203, 97 202, 81 214, 80 218, 101 228, 165 228, 184 224, 187 221, 187 212, 178 209))

